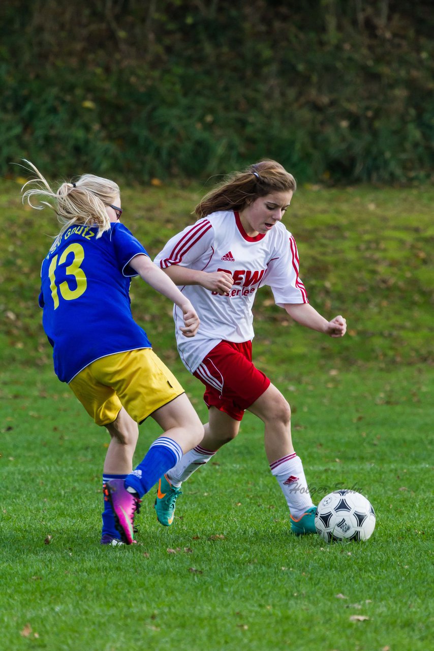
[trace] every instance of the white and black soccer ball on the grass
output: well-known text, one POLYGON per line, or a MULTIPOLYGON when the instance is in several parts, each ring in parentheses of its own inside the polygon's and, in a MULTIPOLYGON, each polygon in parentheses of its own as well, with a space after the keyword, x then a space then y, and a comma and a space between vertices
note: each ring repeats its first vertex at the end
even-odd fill
POLYGON ((335 490, 319 502, 315 527, 325 542, 368 540, 375 528, 375 512, 360 493, 335 490))

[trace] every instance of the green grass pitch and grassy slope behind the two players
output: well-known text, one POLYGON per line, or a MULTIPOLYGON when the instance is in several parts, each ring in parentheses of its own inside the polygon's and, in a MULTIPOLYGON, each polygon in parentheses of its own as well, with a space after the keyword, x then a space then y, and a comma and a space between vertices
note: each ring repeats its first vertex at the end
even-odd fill
MULTIPOLYGON (((139 544, 100 547, 108 443, 51 368, 36 307, 56 224, 0 185, 0 624, 5 650, 425 651, 432 627, 434 193, 305 187, 285 217, 310 301, 342 313, 343 340, 256 305, 257 364, 288 397, 314 501, 336 486, 375 508, 372 538, 295 538, 260 421, 183 486, 174 525, 144 497, 139 544)), ((189 223, 201 187, 132 188, 124 221, 151 255, 189 223)), ((171 306, 133 284, 133 312, 200 416, 174 348, 171 306)), ((137 461, 159 434, 141 427, 137 461)))

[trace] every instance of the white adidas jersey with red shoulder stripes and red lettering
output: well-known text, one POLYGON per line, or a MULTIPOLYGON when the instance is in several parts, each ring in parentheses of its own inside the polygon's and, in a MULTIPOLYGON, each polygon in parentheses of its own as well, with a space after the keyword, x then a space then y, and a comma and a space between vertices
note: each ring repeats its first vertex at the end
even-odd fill
POLYGON ((200 271, 227 271, 234 279, 224 296, 200 285, 180 287, 200 318, 197 335, 183 337, 179 329, 183 326, 182 311, 174 306, 176 343, 185 367, 192 373, 220 341, 253 339, 252 305, 261 285, 271 287, 280 307, 308 303, 299 277, 295 240, 280 222, 267 233, 251 237, 237 212, 214 212, 172 237, 154 262, 161 269, 179 264, 200 271))

